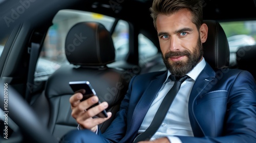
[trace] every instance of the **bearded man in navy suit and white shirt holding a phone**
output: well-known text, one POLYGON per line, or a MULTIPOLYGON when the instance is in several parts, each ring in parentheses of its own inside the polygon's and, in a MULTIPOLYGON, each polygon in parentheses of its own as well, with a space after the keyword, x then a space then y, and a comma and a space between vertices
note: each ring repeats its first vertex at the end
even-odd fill
POLYGON ((223 78, 216 78, 217 71, 203 58, 202 43, 207 39, 208 28, 203 23, 201 3, 154 0, 151 12, 168 70, 135 76, 120 111, 103 134, 98 125, 111 113, 107 118, 93 116, 108 104, 103 102, 88 109, 98 98, 80 102, 82 94, 74 94, 70 98, 72 116, 81 129, 68 133, 65 140, 133 142, 150 126, 173 86, 169 75, 188 75, 190 78, 182 83, 161 127, 150 140, 141 142, 255 142, 255 81, 247 71, 236 69, 226 69, 223 78))

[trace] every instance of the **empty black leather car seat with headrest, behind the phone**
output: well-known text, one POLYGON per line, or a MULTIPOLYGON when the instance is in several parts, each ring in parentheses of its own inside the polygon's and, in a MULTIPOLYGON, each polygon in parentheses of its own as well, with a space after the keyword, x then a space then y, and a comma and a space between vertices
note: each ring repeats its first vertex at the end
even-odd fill
POLYGON ((73 91, 69 82, 87 80, 94 87, 99 100, 109 103, 107 111, 113 114, 110 120, 100 125, 100 130, 104 132, 119 110, 133 74, 106 65, 114 62, 115 48, 110 33, 100 23, 77 23, 69 31, 65 46, 71 64, 61 66, 51 75, 45 96, 41 96, 33 106, 48 124, 52 135, 61 138, 77 128, 71 116, 69 98, 73 91))

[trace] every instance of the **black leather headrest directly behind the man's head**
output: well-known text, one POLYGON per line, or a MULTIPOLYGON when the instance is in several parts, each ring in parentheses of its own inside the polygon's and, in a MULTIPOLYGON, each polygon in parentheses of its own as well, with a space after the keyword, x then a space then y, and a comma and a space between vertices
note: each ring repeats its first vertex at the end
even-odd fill
POLYGON ((208 36, 203 43, 204 58, 212 68, 229 66, 229 46, 226 34, 219 22, 204 20, 208 26, 208 36))

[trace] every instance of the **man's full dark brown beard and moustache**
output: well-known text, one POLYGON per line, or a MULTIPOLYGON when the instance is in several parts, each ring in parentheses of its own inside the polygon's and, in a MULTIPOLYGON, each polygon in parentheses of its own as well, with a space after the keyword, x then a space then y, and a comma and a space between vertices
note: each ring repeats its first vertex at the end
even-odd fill
POLYGON ((164 56, 162 54, 163 62, 166 68, 174 75, 175 77, 185 76, 189 71, 191 71, 201 60, 203 56, 203 46, 200 41, 200 37, 198 38, 197 45, 194 47, 192 53, 189 51, 178 51, 178 52, 168 52, 164 56), (187 56, 187 61, 173 61, 170 63, 168 58, 170 57, 178 57, 178 56, 187 56))

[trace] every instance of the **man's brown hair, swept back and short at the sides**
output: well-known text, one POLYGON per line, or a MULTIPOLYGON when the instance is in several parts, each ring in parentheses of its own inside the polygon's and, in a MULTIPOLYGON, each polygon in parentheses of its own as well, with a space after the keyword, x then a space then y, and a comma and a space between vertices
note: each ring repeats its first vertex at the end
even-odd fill
POLYGON ((192 22, 199 29, 203 23, 203 6, 201 0, 154 0, 150 11, 155 29, 157 29, 156 20, 159 14, 170 15, 184 8, 191 12, 193 16, 192 22))

